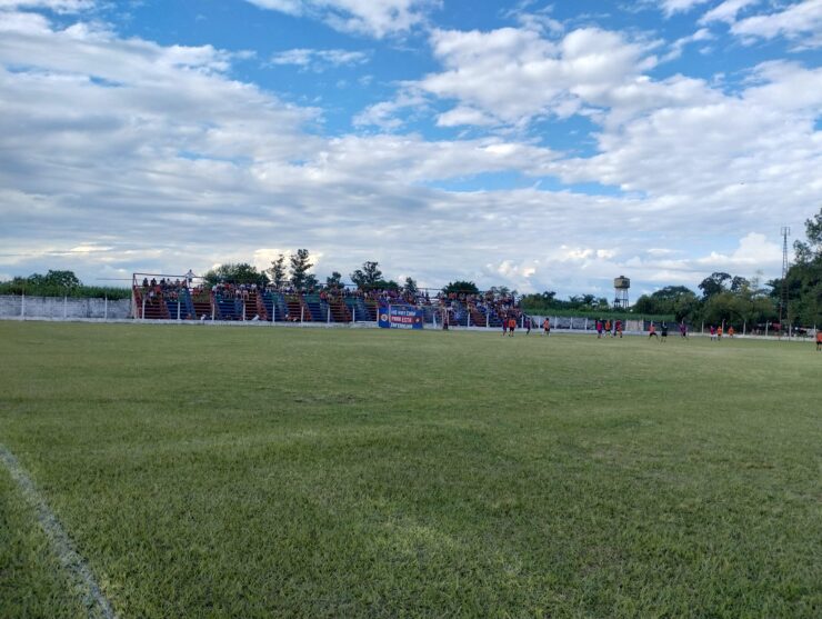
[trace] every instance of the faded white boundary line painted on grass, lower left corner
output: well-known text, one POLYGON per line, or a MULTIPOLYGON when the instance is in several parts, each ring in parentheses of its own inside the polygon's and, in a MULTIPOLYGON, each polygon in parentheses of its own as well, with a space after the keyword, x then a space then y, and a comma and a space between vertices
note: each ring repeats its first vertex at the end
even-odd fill
POLYGON ((14 455, 2 443, 0 443, 0 461, 6 465, 11 479, 14 480, 26 500, 34 508, 37 519, 51 541, 60 562, 69 571, 79 591, 81 591, 82 600, 89 610, 89 617, 116 619, 117 615, 111 608, 111 602, 97 583, 86 559, 74 550, 71 538, 63 530, 54 512, 49 509, 46 498, 37 489, 34 482, 14 458, 14 455))

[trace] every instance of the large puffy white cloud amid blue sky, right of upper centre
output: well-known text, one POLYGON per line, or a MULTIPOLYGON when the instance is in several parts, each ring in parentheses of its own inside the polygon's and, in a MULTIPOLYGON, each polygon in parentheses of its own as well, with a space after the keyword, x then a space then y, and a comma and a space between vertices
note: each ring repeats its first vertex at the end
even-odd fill
MULTIPOLYGON (((651 46, 597 28, 574 30, 559 41, 529 29, 435 30, 431 46, 445 70, 414 86, 459 101, 457 110, 479 112, 474 118, 483 124, 495 119, 522 126, 543 114, 568 117, 584 106, 603 104, 614 88, 655 62, 648 53, 651 46)), ((460 122, 469 119, 454 116, 460 122)))

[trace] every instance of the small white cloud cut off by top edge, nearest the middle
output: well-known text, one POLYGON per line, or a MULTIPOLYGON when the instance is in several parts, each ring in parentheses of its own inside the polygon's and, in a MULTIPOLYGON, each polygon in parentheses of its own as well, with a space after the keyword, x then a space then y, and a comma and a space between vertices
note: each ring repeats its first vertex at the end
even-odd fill
POLYGON ((335 30, 381 39, 423 23, 440 0, 248 0, 261 9, 318 19, 335 30))

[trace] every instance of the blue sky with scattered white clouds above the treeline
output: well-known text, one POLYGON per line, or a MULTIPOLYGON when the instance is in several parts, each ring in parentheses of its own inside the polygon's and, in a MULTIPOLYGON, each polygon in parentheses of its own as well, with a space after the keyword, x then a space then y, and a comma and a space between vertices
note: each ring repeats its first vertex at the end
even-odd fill
POLYGON ((821 61, 822 0, 0 0, 0 279, 766 281, 821 61))

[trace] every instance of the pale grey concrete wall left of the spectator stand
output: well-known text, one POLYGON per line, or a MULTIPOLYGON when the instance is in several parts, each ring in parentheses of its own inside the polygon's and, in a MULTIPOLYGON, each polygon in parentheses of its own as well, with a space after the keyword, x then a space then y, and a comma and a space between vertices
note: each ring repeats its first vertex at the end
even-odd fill
POLYGON ((17 297, 0 294, 0 318, 109 318, 131 317, 131 299, 76 299, 72 297, 17 297))

